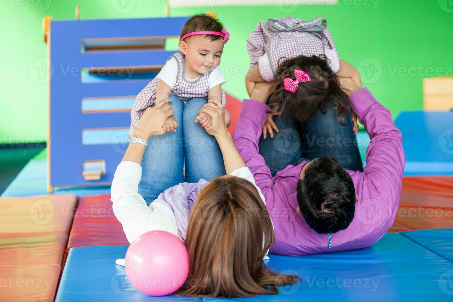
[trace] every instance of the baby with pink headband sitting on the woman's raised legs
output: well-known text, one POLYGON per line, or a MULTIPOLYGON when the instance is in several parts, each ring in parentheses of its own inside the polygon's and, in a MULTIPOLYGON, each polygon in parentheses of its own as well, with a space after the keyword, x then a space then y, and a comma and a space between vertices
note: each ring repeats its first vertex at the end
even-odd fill
MULTIPOLYGON (((201 97, 222 101, 225 107, 225 93, 222 91, 225 78, 219 64, 223 45, 228 38, 229 34, 223 25, 210 15, 197 14, 190 18, 181 31, 180 52, 168 58, 159 74, 137 95, 130 111, 129 137, 133 135, 145 110, 168 99, 170 94, 177 96, 184 104, 201 97)), ((228 126, 231 115, 226 109, 224 112, 228 126)), ((212 124, 211 117, 203 112, 194 119, 205 128, 212 124)), ((170 116, 163 129, 167 132, 176 131, 178 125, 178 121, 170 116)))

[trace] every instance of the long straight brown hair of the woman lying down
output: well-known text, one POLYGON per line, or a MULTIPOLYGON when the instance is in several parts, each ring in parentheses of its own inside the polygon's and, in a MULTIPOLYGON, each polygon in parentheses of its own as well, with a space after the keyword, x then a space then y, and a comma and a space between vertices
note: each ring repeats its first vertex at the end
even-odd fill
POLYGON ((200 192, 189 217, 189 275, 176 293, 198 298, 277 294, 278 286, 299 277, 272 272, 263 263, 274 239, 255 186, 234 176, 214 178, 200 192))

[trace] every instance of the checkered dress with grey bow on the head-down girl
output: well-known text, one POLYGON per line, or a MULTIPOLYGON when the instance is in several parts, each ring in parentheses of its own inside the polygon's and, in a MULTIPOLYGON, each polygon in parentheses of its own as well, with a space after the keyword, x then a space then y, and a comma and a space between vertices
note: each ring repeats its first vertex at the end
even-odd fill
POLYGON ((250 67, 258 65, 258 59, 266 54, 274 76, 285 60, 300 55, 319 56, 325 54, 326 47, 337 53, 332 34, 327 30, 327 21, 321 17, 311 21, 291 16, 260 21, 247 38, 250 67))

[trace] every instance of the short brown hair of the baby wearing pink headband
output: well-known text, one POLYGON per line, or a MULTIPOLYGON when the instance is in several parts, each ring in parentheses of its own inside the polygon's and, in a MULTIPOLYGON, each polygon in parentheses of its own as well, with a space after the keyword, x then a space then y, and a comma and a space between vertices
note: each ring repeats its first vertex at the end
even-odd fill
MULTIPOLYGON (((186 34, 192 33, 195 31, 218 31, 221 32, 223 29, 223 24, 220 23, 217 19, 213 18, 208 14, 195 14, 184 24, 183 29, 181 30, 181 35, 179 39, 181 40, 186 34)), ((211 41, 221 39, 221 36, 215 34, 206 34, 206 38, 211 41)), ((191 37, 185 38, 189 39, 191 37)))

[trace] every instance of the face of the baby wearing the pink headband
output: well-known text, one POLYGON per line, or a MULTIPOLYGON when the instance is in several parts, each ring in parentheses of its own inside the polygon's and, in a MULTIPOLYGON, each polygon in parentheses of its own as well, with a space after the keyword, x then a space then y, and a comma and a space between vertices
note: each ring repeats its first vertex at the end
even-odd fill
POLYGON ((222 38, 211 41, 196 35, 188 38, 186 43, 186 61, 196 72, 205 74, 219 65, 224 45, 222 38))

